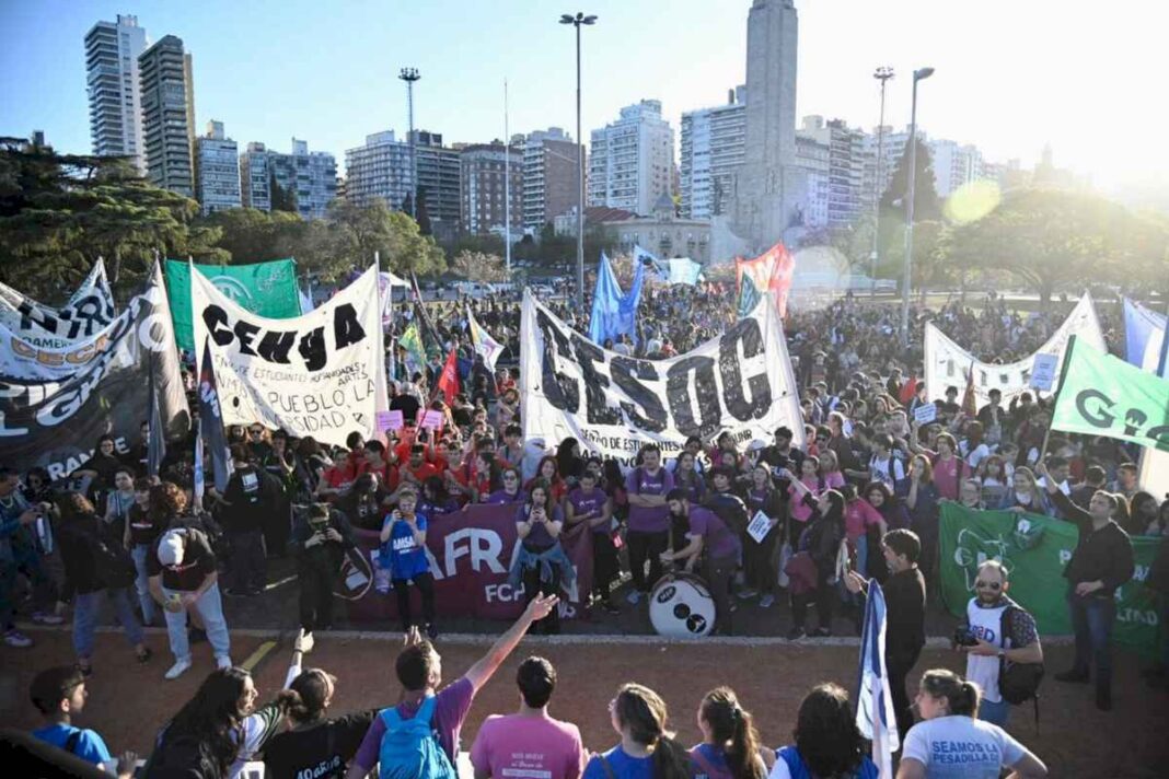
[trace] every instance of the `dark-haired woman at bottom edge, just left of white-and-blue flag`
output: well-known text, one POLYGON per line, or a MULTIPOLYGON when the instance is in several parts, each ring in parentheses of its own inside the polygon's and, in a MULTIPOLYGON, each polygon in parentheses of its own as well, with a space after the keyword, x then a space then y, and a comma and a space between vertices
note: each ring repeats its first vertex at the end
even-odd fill
POLYGON ((770 779, 877 779, 849 694, 838 684, 817 684, 800 702, 795 744, 775 753, 770 779))

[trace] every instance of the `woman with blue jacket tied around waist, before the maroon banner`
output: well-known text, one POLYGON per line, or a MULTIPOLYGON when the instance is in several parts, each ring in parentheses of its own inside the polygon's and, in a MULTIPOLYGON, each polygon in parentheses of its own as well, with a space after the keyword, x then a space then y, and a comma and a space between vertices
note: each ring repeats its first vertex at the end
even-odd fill
MULTIPOLYGON (((565 527, 565 515, 560 506, 549 500, 551 491, 544 481, 535 481, 527 493, 527 500, 516 513, 516 533, 519 536, 519 554, 512 563, 509 584, 516 589, 524 584, 524 598, 531 604, 537 596, 556 596, 560 585, 572 586, 575 577, 572 561, 560 544, 560 531, 565 527)), ((555 635, 560 633, 560 612, 553 608, 544 619, 532 622, 532 633, 555 635)))

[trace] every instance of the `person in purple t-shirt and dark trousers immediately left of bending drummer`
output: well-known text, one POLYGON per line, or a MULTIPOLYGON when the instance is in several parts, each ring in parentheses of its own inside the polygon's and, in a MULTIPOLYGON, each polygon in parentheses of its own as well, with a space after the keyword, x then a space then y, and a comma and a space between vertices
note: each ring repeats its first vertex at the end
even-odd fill
POLYGON ((673 474, 662 467, 662 450, 657 444, 642 447, 642 464, 625 477, 629 493, 629 568, 634 575, 634 589, 629 603, 637 604, 642 594, 662 578, 659 557, 670 545, 670 510, 665 506, 665 494, 673 489, 673 474), (650 577, 645 578, 645 563, 650 564, 650 577))

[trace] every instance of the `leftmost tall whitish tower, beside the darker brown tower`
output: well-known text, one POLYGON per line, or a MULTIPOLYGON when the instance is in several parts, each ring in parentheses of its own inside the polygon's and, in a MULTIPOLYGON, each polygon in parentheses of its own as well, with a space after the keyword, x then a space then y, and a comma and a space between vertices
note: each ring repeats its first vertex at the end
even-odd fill
POLYGON ((138 26, 137 16, 119 14, 118 21, 97 22, 85 34, 85 84, 94 154, 131 157, 139 173, 146 173, 138 76, 138 57, 145 49, 146 30, 138 26))

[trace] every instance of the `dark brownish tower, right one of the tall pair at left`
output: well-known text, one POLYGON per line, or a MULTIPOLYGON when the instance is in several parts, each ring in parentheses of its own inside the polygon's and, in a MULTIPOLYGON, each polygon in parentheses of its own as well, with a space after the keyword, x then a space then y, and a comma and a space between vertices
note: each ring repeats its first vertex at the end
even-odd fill
POLYGON ((194 86, 191 55, 166 35, 138 57, 146 175, 158 187, 194 197, 194 86))

